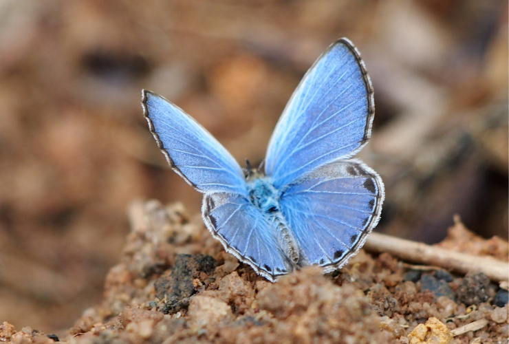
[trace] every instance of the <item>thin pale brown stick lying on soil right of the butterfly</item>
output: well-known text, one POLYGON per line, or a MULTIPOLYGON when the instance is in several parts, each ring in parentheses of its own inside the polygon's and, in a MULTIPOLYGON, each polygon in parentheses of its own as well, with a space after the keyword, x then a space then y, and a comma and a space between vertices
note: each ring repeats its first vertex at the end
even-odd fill
POLYGON ((484 272, 493 281, 507 281, 509 277, 509 264, 504 261, 445 250, 380 233, 371 233, 364 248, 371 252, 388 252, 407 261, 463 274, 470 271, 484 272))

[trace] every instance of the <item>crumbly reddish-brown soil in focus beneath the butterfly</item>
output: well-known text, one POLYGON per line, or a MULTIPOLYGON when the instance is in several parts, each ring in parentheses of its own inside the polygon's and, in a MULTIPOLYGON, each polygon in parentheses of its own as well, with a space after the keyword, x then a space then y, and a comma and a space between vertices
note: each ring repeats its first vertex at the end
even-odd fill
MULTIPOLYGON (((506 343, 508 290, 480 272, 451 275, 361 250, 339 272, 303 268, 276 283, 224 252, 182 204, 135 202, 122 259, 104 299, 69 343, 506 343)), ((508 243, 473 237, 470 252, 507 261, 508 243)), ((465 240, 464 240, 465 241, 465 240)), ((52 343, 31 327, 0 326, 0 340, 52 343)))

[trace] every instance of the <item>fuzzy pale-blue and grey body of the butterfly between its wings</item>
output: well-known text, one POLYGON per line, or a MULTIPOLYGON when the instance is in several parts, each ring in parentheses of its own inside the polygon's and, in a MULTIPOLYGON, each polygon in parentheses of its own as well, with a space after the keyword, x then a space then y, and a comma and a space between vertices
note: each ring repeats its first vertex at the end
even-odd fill
POLYGON ((274 234, 277 235, 279 247, 293 265, 296 265, 300 258, 299 246, 279 206, 281 191, 274 188, 272 178, 259 171, 248 174, 246 185, 251 203, 259 208, 269 223, 274 225, 276 231, 274 234))

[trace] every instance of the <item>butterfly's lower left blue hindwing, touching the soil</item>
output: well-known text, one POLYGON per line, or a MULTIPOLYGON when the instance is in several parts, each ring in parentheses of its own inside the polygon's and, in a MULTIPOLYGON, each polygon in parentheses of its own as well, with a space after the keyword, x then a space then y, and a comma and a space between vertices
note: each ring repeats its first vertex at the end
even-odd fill
POLYGON ((279 248, 274 229, 246 197, 212 193, 204 197, 204 222, 227 252, 270 281, 292 270, 279 248))

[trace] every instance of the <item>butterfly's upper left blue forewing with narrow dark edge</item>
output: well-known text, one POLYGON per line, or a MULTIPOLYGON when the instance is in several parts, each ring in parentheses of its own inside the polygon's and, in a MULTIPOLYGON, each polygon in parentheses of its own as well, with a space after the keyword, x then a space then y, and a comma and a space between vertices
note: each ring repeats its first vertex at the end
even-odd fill
POLYGON ((162 96, 142 92, 149 129, 171 167, 198 191, 246 195, 243 172, 226 149, 191 116, 162 96))

